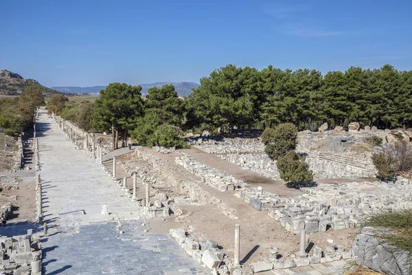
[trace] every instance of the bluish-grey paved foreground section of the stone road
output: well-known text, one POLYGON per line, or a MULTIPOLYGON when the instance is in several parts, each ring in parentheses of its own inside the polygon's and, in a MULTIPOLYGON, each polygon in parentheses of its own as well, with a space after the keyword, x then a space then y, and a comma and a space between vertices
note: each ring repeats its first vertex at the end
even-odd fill
POLYGON ((116 234, 116 224, 82 225, 80 234, 50 236, 43 252, 45 274, 210 273, 167 235, 144 233, 135 228, 133 234, 127 234, 126 230, 127 239, 122 241, 116 234))

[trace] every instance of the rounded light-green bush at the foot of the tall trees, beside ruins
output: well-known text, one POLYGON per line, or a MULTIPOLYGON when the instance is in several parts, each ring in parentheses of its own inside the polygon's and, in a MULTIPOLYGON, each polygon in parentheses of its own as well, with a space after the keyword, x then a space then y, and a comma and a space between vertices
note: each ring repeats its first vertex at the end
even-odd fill
POLYGON ((162 124, 157 127, 151 139, 153 146, 163 146, 165 148, 183 148, 185 147, 184 140, 179 137, 176 130, 169 124, 162 124))

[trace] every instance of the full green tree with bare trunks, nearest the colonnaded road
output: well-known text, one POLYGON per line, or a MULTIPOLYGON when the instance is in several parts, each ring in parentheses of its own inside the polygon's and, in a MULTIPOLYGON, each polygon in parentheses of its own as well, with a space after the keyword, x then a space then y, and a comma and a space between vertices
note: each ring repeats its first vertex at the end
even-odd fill
POLYGON ((128 131, 134 129, 136 120, 144 113, 140 91, 141 86, 111 83, 95 101, 92 126, 102 131, 111 129, 113 150, 117 149, 119 132, 123 135, 122 146, 126 146, 128 131))

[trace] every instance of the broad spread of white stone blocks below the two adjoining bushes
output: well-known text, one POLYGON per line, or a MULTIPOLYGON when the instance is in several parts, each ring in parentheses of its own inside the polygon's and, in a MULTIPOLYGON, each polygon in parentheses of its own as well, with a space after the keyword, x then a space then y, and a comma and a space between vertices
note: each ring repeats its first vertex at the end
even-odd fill
POLYGON ((304 195, 285 198, 242 184, 236 197, 257 210, 267 210, 270 217, 295 234, 301 229, 311 233, 325 232, 329 227, 353 228, 369 214, 412 208, 412 181, 408 179, 399 179, 396 184, 319 184, 301 190, 304 195))

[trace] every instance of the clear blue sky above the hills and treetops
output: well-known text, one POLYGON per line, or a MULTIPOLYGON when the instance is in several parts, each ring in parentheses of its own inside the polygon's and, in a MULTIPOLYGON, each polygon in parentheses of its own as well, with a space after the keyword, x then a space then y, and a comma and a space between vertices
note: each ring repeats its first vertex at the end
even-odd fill
POLYGON ((262 69, 412 69, 412 1, 0 0, 0 69, 51 86, 262 69))

